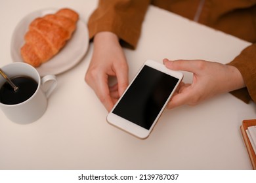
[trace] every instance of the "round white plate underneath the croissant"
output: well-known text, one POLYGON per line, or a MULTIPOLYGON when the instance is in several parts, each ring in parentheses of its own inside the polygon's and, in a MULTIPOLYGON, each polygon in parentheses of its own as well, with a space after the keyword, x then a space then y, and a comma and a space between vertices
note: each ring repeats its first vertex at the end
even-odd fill
MULTIPOLYGON (((45 16, 45 14, 53 14, 56 9, 45 9, 32 12, 25 16, 14 29, 11 41, 11 57, 12 61, 23 61, 20 55, 20 48, 24 44, 24 35, 28 31, 28 25, 37 17, 45 16)), ((53 58, 40 67, 37 71, 40 76, 58 75, 74 67, 83 58, 89 46, 89 33, 87 25, 80 20, 77 22, 77 28, 71 39, 66 43, 64 48, 58 52, 53 58)))

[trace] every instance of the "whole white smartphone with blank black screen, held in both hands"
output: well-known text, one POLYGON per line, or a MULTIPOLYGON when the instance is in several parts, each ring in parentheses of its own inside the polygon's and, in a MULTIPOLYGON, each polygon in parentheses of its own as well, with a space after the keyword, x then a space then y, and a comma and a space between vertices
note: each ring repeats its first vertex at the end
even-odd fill
POLYGON ((147 60, 108 114, 107 122, 146 139, 182 77, 179 71, 147 60))

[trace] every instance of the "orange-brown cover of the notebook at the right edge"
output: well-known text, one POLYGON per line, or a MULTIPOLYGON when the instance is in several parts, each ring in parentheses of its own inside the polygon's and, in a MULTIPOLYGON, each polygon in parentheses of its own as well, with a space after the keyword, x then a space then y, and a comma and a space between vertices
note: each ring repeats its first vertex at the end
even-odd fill
POLYGON ((256 125, 256 119, 255 120, 244 120, 242 122, 242 125, 240 127, 242 131, 242 136, 245 142, 245 146, 247 148, 247 152, 249 154, 249 158, 251 159, 251 165, 253 166, 253 169, 256 170, 256 155, 253 150, 253 147, 251 146, 251 142, 249 141, 249 137, 246 133, 246 129, 248 129, 249 126, 254 126, 256 125))

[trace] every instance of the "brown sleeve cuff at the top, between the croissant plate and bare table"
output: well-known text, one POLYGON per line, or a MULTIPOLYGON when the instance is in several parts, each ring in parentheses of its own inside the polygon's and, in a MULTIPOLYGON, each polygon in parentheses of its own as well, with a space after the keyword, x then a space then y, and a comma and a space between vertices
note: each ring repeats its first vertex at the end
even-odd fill
POLYGON ((98 32, 111 31, 135 49, 149 4, 150 0, 100 0, 89 18, 90 39, 98 32))

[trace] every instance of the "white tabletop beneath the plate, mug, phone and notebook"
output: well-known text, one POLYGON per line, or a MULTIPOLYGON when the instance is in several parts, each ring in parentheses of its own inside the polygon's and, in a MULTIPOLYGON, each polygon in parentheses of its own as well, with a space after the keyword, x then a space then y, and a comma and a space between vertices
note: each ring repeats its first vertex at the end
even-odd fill
MULTIPOLYGON (((97 1, 1 1, 0 67, 12 62, 11 36, 26 14, 70 7, 88 20, 97 1)), ((248 42, 149 7, 137 50, 125 50, 129 78, 146 59, 207 59, 227 63, 248 42), (160 21, 161 20, 161 21, 160 21)), ((58 86, 42 118, 14 124, 0 111, 0 169, 251 169, 240 125, 255 104, 226 93, 196 107, 165 110, 146 140, 107 124, 107 111, 84 82, 93 44, 58 86)), ((184 81, 191 80, 184 73, 184 81)))

